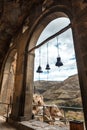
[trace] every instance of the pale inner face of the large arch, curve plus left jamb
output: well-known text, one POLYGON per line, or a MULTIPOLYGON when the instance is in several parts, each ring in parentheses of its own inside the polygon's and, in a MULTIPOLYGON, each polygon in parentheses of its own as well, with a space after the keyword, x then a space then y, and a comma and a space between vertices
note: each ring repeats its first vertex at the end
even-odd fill
MULTIPOLYGON (((63 12, 54 12, 42 18, 41 22, 37 25, 36 29, 33 31, 32 37, 30 38, 30 41, 28 42, 27 52, 36 45, 37 40, 41 32, 46 27, 46 25, 50 21, 58 17, 68 17, 68 16, 63 12)), ((32 112, 34 57, 35 57, 34 53, 35 53, 34 51, 27 53, 26 95, 25 95, 25 109, 24 109, 25 113, 29 113, 29 111, 32 112)))

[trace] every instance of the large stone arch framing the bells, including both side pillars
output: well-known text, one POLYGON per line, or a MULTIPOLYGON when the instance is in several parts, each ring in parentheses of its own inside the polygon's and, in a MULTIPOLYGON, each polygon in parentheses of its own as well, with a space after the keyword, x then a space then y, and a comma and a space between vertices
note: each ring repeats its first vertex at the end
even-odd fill
MULTIPOLYGON (((72 9, 68 8, 66 5, 59 5, 54 6, 50 8, 49 10, 46 10, 42 12, 42 14, 38 18, 36 17, 36 21, 34 21, 32 27, 30 27, 29 35, 27 35, 27 41, 26 47, 23 48, 25 55, 23 55, 21 52, 19 60, 21 59, 21 63, 23 63, 24 67, 23 72, 19 72, 19 75, 16 79, 16 84, 19 79, 22 79, 17 85, 19 85, 15 89, 15 100, 14 100, 14 106, 13 106, 13 120, 20 120, 20 117, 26 117, 22 118, 24 120, 31 119, 31 113, 32 113, 32 88, 33 88, 33 67, 34 67, 34 51, 31 53, 28 53, 28 51, 36 45, 37 39, 40 36, 40 33, 43 31, 43 29, 46 27, 46 25, 53 19, 58 17, 69 17, 71 20, 72 25, 72 31, 73 31, 73 37, 74 37, 74 46, 75 46, 75 52, 76 52, 76 60, 77 60, 77 67, 78 67, 78 75, 79 75, 79 82, 80 82, 80 88, 81 88, 81 94, 82 94, 82 102, 83 102, 83 108, 85 113, 85 122, 87 125, 87 36, 85 34, 84 29, 87 29, 86 27, 86 15, 84 14, 84 10, 81 10, 81 6, 78 5, 78 1, 75 3, 72 3, 72 9), (78 7, 78 8, 77 8, 78 7), (75 11, 78 11, 78 15, 75 13, 75 11), (82 14, 84 14, 82 16, 82 14), (80 17, 81 15, 81 17, 80 17), (83 19, 81 19, 83 18, 83 19), (83 27, 83 28, 82 28, 83 27), (80 35, 79 35, 80 33, 80 35), (83 38, 85 39, 83 42, 83 38), (82 46, 84 44, 84 46, 82 46), (16 92, 16 90, 19 90, 16 92), (17 105, 16 105, 17 104, 17 105), (22 106, 22 108, 21 108, 22 106)), ((25 36, 26 37, 26 36, 25 36)), ((24 42, 24 43, 25 43, 24 42)), ((21 45, 20 45, 21 46, 21 45)), ((20 67, 21 63, 19 63, 20 67)))

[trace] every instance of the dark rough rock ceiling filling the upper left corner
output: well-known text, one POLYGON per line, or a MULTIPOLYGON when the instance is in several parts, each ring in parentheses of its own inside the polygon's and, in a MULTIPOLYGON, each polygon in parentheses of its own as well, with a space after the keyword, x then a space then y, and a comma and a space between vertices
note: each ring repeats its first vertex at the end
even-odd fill
MULTIPOLYGON (((35 10, 35 5, 37 6, 43 3, 43 1, 44 0, 0 0, 0 67, 9 49, 11 40, 17 35, 29 13, 35 10)), ((73 0, 55 0, 57 3, 65 3, 67 5, 70 1, 73 0)), ((81 1, 86 2, 87 0, 81 1)))

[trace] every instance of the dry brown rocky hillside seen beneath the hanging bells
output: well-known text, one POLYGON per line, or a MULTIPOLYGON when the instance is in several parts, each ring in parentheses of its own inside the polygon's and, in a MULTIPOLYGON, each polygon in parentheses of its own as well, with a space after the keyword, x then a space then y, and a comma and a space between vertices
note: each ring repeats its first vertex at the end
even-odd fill
POLYGON ((35 81, 35 92, 44 97, 48 104, 63 106, 82 106, 78 75, 73 75, 64 80, 58 81, 35 81))

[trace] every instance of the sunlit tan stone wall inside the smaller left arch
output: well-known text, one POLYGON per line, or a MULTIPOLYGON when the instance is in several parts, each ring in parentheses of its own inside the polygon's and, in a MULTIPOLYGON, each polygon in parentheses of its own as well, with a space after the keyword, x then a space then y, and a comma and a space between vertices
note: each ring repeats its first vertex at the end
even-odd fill
MULTIPOLYGON (((12 105, 16 73, 16 62, 17 52, 16 49, 13 49, 5 59, 3 69, 2 86, 0 94, 0 112, 2 112, 0 113, 1 115, 7 114, 8 105, 12 105)), ((9 111, 11 112, 10 108, 9 111)))

